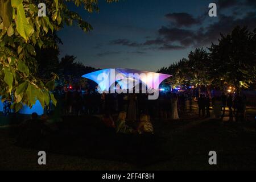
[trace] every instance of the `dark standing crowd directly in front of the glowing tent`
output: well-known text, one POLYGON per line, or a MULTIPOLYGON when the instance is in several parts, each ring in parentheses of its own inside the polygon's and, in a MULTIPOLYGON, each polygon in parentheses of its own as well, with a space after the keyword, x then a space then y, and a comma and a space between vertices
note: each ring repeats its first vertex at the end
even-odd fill
MULTIPOLYGON (((61 90, 57 101, 62 115, 65 114, 114 114, 127 113, 127 121, 137 121, 141 114, 151 118, 179 119, 179 114, 187 110, 186 101, 192 102, 191 94, 160 92, 158 100, 148 100, 148 94, 110 94, 94 90, 61 90)), ((190 107, 191 110, 191 107, 190 107)))

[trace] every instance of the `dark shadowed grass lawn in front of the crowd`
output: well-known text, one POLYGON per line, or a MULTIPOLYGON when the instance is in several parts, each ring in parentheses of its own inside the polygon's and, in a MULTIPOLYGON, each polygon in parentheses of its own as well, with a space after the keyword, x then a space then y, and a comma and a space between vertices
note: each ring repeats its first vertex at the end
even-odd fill
MULTIPOLYGON (((77 122, 72 126, 77 129, 85 126, 80 124, 77 122)), ((155 136, 151 138, 153 142, 147 144, 146 140, 138 139, 140 136, 126 136, 119 140, 115 140, 117 136, 114 136, 109 142, 110 138, 97 131, 94 135, 83 132, 72 135, 70 140, 64 137, 64 143, 61 143, 61 139, 56 140, 55 150, 46 150, 46 166, 37 163, 38 149, 16 146, 14 131, 3 128, 0 129, 0 169, 255 170, 256 133, 252 126, 253 122, 229 123, 193 115, 180 121, 155 121, 155 136), (212 150, 217 152, 215 166, 208 164, 208 152, 212 150)), ((76 131, 79 133, 80 130, 76 131)))

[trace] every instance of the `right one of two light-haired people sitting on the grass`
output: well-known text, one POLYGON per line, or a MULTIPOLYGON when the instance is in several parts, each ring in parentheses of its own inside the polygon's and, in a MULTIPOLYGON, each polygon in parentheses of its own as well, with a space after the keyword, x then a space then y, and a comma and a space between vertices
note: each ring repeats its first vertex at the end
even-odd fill
POLYGON ((141 117, 139 119, 139 125, 137 127, 137 131, 139 134, 142 133, 154 133, 154 128, 152 123, 150 122, 150 118, 146 114, 141 114, 141 117))

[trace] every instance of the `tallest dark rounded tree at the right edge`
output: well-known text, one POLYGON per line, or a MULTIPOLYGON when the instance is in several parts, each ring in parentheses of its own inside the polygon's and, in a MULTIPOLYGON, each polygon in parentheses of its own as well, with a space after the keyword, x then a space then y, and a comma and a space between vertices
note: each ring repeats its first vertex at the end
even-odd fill
POLYGON ((248 88, 256 79, 256 28, 235 27, 231 34, 222 35, 210 50, 210 77, 213 85, 248 88))

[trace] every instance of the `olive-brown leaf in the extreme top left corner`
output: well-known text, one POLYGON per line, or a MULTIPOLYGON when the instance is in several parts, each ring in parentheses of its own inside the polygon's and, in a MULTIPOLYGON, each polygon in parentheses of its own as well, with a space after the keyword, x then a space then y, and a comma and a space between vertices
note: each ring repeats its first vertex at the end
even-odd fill
POLYGON ((0 1, 0 16, 3 20, 3 26, 9 28, 11 20, 13 18, 13 8, 11 7, 10 0, 1 0, 0 1))

